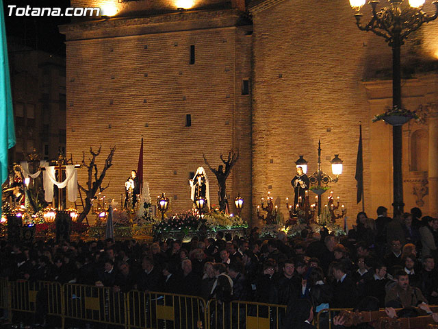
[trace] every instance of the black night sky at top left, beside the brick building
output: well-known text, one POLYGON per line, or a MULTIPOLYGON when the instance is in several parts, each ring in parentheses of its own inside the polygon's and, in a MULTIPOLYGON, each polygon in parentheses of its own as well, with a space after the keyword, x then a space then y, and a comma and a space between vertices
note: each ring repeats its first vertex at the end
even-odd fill
POLYGON ((65 36, 60 34, 58 25, 70 23, 66 16, 8 16, 8 5, 17 7, 66 8, 70 0, 3 0, 6 34, 19 38, 21 42, 38 50, 49 51, 65 57, 65 36))

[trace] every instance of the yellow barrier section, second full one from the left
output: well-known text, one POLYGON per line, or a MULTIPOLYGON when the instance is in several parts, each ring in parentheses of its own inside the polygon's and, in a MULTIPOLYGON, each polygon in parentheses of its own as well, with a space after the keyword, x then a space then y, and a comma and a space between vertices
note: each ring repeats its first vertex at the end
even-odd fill
POLYGON ((125 293, 116 293, 108 287, 83 284, 64 284, 63 290, 66 318, 127 328, 125 293))

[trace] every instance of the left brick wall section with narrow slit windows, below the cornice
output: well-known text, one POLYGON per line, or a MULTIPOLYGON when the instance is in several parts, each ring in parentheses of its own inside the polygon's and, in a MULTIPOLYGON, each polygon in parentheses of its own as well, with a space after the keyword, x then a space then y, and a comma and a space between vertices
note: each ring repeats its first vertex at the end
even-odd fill
MULTIPOLYGON (((241 95, 240 86, 250 72, 245 28, 95 39, 87 33, 88 40, 71 40, 66 32, 67 152, 81 160, 82 151, 102 145, 101 168, 116 145, 105 178, 107 198, 120 202, 143 137, 144 180, 152 198, 167 193, 172 212, 191 208, 189 173, 206 167, 203 154, 217 168, 220 154, 227 156, 232 148, 240 149, 240 160, 227 192, 250 199, 250 98, 241 95), (190 45, 194 64, 189 64, 190 45), (185 127, 186 114, 191 127, 185 127)), ((74 35, 80 39, 80 32, 74 35)), ((208 170, 207 176, 211 203, 218 204, 216 177, 208 170)), ((79 181, 85 179, 82 170, 79 181)))

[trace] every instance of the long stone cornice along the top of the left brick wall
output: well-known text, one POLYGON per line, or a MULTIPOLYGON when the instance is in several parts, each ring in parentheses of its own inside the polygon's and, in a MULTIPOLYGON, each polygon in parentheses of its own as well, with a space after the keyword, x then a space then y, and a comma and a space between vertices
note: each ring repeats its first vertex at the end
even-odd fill
MULTIPOLYGON (((119 29, 142 29, 147 27, 157 27, 157 25, 175 25, 173 29, 178 30, 177 26, 181 26, 181 30, 186 29, 184 23, 200 22, 201 25, 207 27, 227 27, 235 26, 237 22, 244 17, 244 13, 240 10, 198 10, 192 12, 172 12, 168 14, 159 14, 146 17, 121 17, 113 19, 100 19, 98 21, 85 21, 78 23, 70 23, 60 25, 60 32, 66 34, 67 40, 75 40, 76 34, 84 34, 94 32, 104 32, 105 36, 120 36, 117 34, 119 29), (215 24, 215 21, 218 23, 215 24), (216 26, 217 25, 217 26, 216 26)), ((201 27, 202 28, 202 27, 201 27)), ((123 33, 123 35, 128 35, 123 33)))

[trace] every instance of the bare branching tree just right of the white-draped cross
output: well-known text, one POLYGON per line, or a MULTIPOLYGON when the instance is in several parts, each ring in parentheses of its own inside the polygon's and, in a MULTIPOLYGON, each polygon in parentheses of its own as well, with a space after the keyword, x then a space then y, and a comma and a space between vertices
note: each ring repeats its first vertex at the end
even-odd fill
POLYGON ((85 206, 83 207, 83 211, 81 212, 81 215, 79 215, 77 221, 81 223, 83 219, 88 215, 88 212, 91 210, 91 200, 94 199, 96 196, 97 191, 99 192, 104 191, 105 189, 110 186, 110 183, 107 184, 107 186, 102 187, 103 178, 105 178, 105 174, 108 169, 112 166, 112 157, 114 156, 114 151, 116 151, 116 147, 110 147, 110 154, 108 154, 107 159, 105 160, 105 166, 103 167, 101 173, 99 174, 99 171, 97 170, 96 165, 96 157, 101 154, 102 145, 99 147, 97 152, 94 152, 92 150, 92 147, 90 147, 90 154, 92 155, 92 158, 88 158, 89 164, 86 164, 85 162, 85 151, 83 152, 83 158, 82 158, 82 166, 88 168, 88 180, 87 180, 87 188, 84 188, 80 184, 78 184, 81 191, 83 191, 86 195, 85 199, 85 206))

